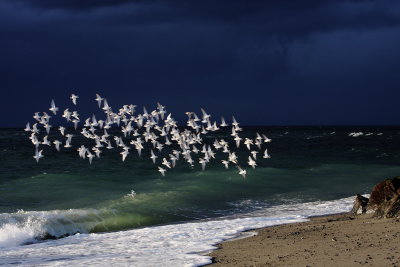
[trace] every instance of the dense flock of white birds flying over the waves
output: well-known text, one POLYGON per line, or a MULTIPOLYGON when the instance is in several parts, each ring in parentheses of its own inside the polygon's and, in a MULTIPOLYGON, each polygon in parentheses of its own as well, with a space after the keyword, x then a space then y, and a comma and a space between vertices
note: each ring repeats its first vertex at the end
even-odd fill
MULTIPOLYGON (((77 105, 78 96, 72 94, 70 99, 74 105, 77 105)), ((236 149, 241 145, 245 146, 249 152, 247 164, 252 168, 257 166, 257 154, 262 152, 264 159, 270 158, 267 149, 262 146, 265 143, 271 142, 271 139, 264 134, 257 133, 257 136, 252 138, 241 138, 239 132, 242 131, 239 123, 232 117, 231 125, 228 125, 223 117, 219 125, 216 121, 211 120, 211 115, 204 109, 201 109, 202 117, 199 118, 195 112, 186 112, 188 116, 187 127, 182 130, 177 125, 172 114, 167 115, 167 110, 164 106, 157 103, 157 108, 148 112, 143 108, 143 113, 136 112, 136 105, 124 105, 118 112, 114 112, 109 106, 107 99, 96 94, 95 100, 98 103, 99 109, 105 114, 105 119, 96 119, 93 115, 84 120, 83 125, 78 129, 81 122, 77 111, 70 111, 69 108, 65 109, 62 113, 67 123, 71 124, 71 129, 80 131, 80 134, 85 138, 93 140, 92 147, 85 147, 81 145, 77 151, 79 157, 88 159, 91 164, 94 158, 100 158, 104 149, 119 148, 122 161, 125 161, 131 151, 136 150, 138 155, 141 156, 142 150, 145 149, 145 144, 151 144, 150 159, 154 164, 158 164, 158 171, 165 176, 167 170, 175 167, 176 162, 182 158, 190 166, 194 167, 195 160, 201 164, 202 170, 205 170, 207 163, 216 158, 216 153, 221 151, 225 155, 225 159, 221 163, 226 169, 229 165, 234 165, 239 171, 239 174, 246 177, 246 170, 239 166, 238 156, 236 149), (107 131, 112 127, 118 127, 118 135, 109 134, 107 131), (209 132, 216 132, 221 128, 231 127, 230 136, 233 138, 233 145, 224 139, 214 139, 212 144, 206 144, 203 140, 209 132), (129 142, 129 143, 128 143, 129 142), (161 153, 161 151, 163 151, 161 153), (166 151, 170 150, 169 154, 166 151), (168 155, 167 155, 168 154, 168 155), (164 156, 163 156, 164 155, 164 156), (196 157, 194 157, 196 155, 196 157), (162 157, 162 158, 161 158, 162 157)), ((57 115, 59 108, 55 105, 54 100, 51 101, 49 108, 53 115, 57 115)), ((43 157, 43 149, 40 146, 54 145, 57 151, 61 147, 71 149, 72 140, 74 135, 67 133, 70 129, 59 126, 58 131, 61 134, 61 140, 49 140, 49 133, 52 128, 50 125, 50 116, 46 112, 36 112, 33 116, 35 123, 31 126, 28 122, 25 131, 30 132, 30 140, 35 146, 35 155, 33 156, 37 162, 43 157), (43 128, 43 129, 41 129, 43 128), (45 131, 46 135, 42 138, 39 136, 40 132, 45 131)), ((245 149, 245 150, 246 150, 245 149)))

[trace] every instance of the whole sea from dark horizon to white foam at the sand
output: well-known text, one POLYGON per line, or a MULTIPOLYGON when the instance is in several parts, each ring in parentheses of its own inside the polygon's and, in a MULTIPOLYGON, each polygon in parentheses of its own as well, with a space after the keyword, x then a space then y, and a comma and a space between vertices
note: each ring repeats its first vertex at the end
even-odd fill
POLYGON ((180 160, 165 176, 149 149, 124 162, 110 150, 89 164, 79 137, 70 150, 44 148, 36 163, 29 133, 0 129, 0 265, 204 265, 218 242, 349 211, 356 193, 400 174, 400 127, 243 127, 241 137, 257 132, 272 139, 271 158, 260 153, 243 178, 221 154, 205 171, 180 160))

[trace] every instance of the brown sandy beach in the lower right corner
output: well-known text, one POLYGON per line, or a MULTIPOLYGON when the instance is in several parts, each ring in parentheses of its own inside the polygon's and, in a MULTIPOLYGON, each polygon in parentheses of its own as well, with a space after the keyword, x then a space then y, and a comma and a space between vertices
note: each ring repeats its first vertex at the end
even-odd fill
POLYGON ((211 266, 399 266, 400 220, 339 214, 227 241, 211 266))

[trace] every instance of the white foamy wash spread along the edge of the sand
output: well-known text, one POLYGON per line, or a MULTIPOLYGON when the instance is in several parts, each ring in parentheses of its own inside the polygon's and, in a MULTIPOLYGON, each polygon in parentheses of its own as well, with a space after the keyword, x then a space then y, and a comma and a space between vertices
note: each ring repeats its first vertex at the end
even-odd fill
MULTIPOLYGON (((39 266, 198 266, 214 245, 254 228, 301 222, 308 216, 349 211, 353 198, 282 205, 220 219, 147 227, 104 234, 77 234, 59 240, 0 248, 0 264, 39 266)), ((13 230, 11 230, 13 231, 13 230)), ((28 231, 29 235, 29 231, 28 231)))

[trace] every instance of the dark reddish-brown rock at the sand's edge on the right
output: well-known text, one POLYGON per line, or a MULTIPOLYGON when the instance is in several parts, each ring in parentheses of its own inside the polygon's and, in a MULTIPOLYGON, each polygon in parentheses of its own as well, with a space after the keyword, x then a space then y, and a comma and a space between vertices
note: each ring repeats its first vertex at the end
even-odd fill
POLYGON ((384 218, 400 216, 400 177, 375 185, 369 199, 357 194, 352 213, 373 213, 384 218))

